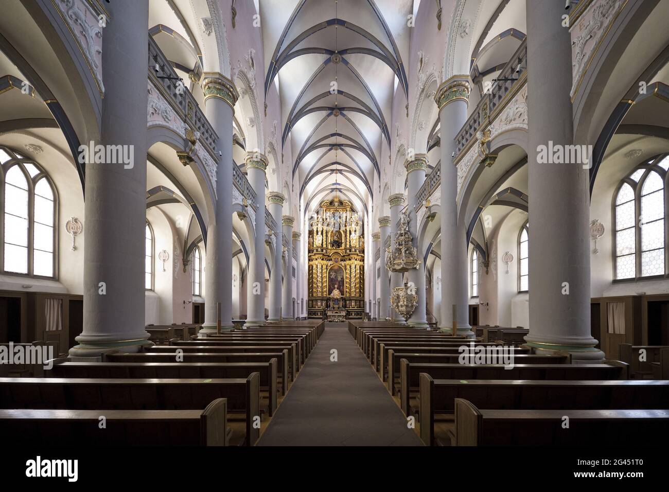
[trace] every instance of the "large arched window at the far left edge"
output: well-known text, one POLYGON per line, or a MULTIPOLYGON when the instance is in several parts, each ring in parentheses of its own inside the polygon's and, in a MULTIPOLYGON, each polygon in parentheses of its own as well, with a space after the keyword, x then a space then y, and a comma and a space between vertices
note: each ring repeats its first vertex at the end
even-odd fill
POLYGON ((56 277, 56 193, 34 161, 0 147, 3 272, 56 277))

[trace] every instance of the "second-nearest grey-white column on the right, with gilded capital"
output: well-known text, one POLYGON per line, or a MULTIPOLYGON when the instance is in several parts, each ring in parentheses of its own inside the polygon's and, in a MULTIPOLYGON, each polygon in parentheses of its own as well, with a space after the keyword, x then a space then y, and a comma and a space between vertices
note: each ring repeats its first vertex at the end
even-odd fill
POLYGON ((453 164, 455 137, 467 120, 469 76, 457 75, 439 86, 435 101, 439 107, 442 140, 442 307, 440 329, 452 331, 456 305, 458 333, 474 337, 469 325, 468 244, 466 224, 458 224, 458 169, 453 164))

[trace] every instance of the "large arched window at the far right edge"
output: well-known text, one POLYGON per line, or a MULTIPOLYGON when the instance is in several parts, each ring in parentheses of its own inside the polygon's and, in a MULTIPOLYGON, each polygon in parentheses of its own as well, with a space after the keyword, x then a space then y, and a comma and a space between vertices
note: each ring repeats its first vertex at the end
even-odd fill
POLYGON ((664 276, 666 273, 666 186, 669 156, 637 166, 613 197, 615 280, 664 276))

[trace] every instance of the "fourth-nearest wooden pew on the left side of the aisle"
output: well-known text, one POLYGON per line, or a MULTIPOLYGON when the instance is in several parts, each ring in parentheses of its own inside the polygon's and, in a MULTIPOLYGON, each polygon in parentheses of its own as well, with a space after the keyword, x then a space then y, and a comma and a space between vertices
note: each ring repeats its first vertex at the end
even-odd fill
MULTIPOLYGON (((175 349, 176 350, 176 349, 175 349)), ((177 353, 107 353, 105 362, 270 362, 277 360, 278 374, 281 375, 281 394, 286 395, 288 390, 288 350, 283 353, 181 353, 177 360, 177 353)))

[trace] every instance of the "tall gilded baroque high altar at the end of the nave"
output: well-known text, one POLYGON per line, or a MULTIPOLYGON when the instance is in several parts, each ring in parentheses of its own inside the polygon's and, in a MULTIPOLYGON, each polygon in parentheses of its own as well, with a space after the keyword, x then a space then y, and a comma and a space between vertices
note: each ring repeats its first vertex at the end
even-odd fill
POLYGON ((343 321, 365 312, 363 222, 346 200, 320 203, 309 222, 308 317, 343 321), (334 295, 333 295, 334 293, 334 295))

